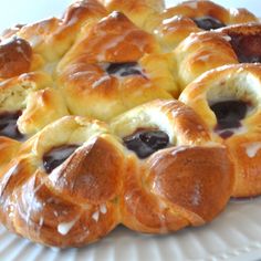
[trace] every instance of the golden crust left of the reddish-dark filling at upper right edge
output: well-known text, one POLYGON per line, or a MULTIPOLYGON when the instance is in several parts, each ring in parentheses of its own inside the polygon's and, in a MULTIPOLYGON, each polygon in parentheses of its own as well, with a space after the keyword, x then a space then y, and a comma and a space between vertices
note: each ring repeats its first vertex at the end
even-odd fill
POLYGON ((191 33, 175 50, 180 88, 211 69, 238 63, 230 38, 219 32, 191 33), (185 70, 186 69, 186 70, 185 70))

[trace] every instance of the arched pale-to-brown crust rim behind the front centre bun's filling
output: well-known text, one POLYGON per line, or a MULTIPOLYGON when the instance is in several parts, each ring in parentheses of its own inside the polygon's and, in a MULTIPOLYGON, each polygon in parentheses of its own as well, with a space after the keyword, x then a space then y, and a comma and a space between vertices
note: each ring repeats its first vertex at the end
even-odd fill
POLYGON ((155 128, 167 132, 170 142, 177 145, 210 142, 208 129, 201 118, 182 103, 156 100, 139 105, 111 122, 112 130, 126 137, 136 129, 155 128))

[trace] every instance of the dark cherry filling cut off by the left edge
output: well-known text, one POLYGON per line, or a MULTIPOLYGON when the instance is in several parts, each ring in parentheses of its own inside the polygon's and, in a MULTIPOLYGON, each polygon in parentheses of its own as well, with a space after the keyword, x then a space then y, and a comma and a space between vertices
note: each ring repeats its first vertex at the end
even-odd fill
POLYGON ((17 140, 24 139, 24 135, 19 132, 17 125, 17 121, 21 114, 21 111, 0 113, 0 136, 6 136, 17 140))

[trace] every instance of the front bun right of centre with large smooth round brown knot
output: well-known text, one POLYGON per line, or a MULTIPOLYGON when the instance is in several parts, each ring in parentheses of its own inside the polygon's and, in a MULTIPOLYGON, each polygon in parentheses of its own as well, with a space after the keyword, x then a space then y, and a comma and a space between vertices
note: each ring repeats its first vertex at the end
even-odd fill
POLYGON ((125 226, 163 233, 202 225, 223 209, 233 167, 191 108, 157 100, 114 118, 111 127, 125 146, 125 226))

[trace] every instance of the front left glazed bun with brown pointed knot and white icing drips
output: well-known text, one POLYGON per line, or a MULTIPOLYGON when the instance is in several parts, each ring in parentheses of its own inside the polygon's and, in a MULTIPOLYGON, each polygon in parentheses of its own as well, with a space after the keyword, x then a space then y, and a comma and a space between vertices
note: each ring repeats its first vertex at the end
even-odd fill
POLYGON ((107 234, 119 221, 124 159, 117 144, 105 124, 84 117, 66 116, 43 128, 2 171, 3 225, 61 248, 107 234))

